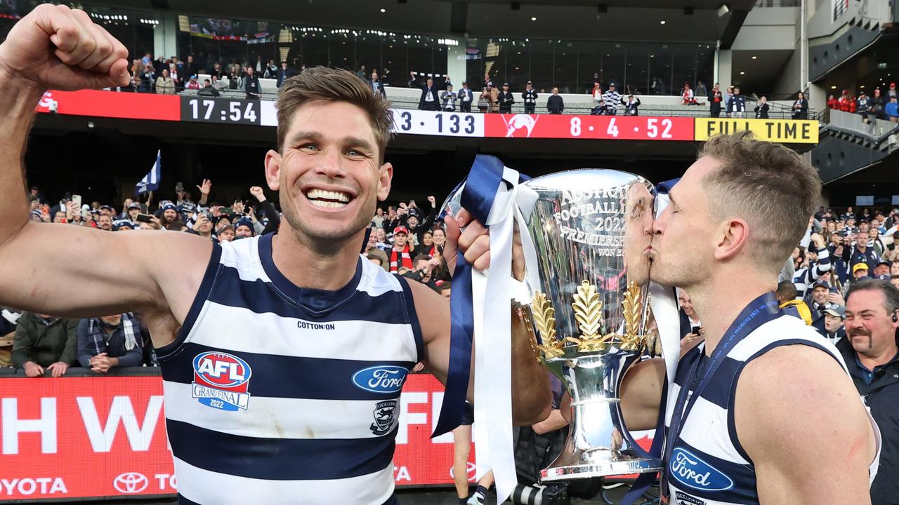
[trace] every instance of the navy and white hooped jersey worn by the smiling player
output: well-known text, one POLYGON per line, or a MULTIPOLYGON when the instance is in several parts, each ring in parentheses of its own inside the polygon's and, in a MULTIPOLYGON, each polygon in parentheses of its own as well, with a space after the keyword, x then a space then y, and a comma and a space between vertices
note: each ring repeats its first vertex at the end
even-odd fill
POLYGON ((298 288, 271 236, 215 245, 156 350, 179 500, 392 503, 400 390, 422 359, 412 293, 362 258, 337 291, 298 288))

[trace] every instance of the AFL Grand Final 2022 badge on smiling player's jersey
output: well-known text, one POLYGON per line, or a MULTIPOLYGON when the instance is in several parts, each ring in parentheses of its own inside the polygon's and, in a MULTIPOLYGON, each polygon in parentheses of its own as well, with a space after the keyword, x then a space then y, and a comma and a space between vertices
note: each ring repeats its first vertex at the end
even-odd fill
POLYGON ((253 370, 227 352, 203 352, 193 359, 191 393, 198 402, 222 411, 246 410, 253 370))

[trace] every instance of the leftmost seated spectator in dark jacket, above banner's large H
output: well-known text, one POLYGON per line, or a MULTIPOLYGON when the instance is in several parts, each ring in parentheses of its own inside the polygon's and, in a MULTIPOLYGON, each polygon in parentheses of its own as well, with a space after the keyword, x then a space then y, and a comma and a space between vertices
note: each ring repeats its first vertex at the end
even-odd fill
POLYGON ((41 377, 45 368, 53 377, 62 376, 76 359, 77 328, 77 319, 22 314, 15 327, 13 365, 27 377, 41 377))

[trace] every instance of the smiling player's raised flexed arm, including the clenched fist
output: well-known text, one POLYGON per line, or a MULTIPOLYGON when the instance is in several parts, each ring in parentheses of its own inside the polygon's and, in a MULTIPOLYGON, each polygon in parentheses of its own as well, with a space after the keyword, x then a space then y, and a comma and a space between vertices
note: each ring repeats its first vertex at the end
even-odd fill
POLYGON ((171 306, 182 321, 209 258, 207 241, 29 219, 22 155, 43 90, 100 88, 128 78, 127 51, 90 25, 84 12, 41 4, 0 45, 0 306, 64 317, 135 308, 167 314, 171 306))

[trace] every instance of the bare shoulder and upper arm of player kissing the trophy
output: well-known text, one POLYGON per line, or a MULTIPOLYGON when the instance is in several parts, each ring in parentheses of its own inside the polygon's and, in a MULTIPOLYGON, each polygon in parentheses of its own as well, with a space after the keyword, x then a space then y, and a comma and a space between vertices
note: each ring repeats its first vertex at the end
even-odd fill
POLYGON ((754 359, 736 388, 734 419, 761 503, 870 503, 875 453, 859 393, 821 350, 780 347, 754 359))

